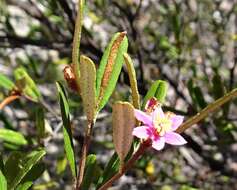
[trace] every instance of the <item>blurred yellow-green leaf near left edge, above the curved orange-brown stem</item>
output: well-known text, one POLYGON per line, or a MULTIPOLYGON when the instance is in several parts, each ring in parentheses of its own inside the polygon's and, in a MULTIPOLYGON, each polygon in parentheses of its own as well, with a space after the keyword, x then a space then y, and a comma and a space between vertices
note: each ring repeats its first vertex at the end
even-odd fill
POLYGON ((37 102, 40 99, 41 94, 26 70, 23 67, 19 67, 14 71, 14 76, 17 88, 32 101, 37 102))

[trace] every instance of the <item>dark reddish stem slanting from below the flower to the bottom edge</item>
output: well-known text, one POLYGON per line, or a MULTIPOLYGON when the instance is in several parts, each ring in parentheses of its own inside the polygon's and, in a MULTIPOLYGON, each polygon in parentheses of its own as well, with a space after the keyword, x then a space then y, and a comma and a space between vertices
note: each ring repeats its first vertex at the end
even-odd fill
POLYGON ((119 179, 127 170, 129 170, 133 164, 138 160, 138 158, 144 154, 145 150, 150 147, 150 144, 146 141, 141 143, 138 150, 133 154, 133 156, 128 160, 128 162, 116 173, 113 177, 111 177, 106 183, 104 183, 98 190, 106 190, 108 189, 114 181, 119 179))

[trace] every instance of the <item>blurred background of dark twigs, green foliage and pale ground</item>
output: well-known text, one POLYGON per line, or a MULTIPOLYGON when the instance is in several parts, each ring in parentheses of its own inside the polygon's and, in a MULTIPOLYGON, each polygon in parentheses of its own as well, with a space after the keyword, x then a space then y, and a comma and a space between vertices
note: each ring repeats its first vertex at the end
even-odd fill
MULTIPOLYGON (((0 151, 6 161, 13 150, 45 147, 43 174, 34 189, 70 189, 72 184, 55 82, 64 82, 62 70, 71 62, 76 3, 0 0, 0 73, 13 80, 16 68, 24 67, 42 95, 38 103, 21 98, 0 111, 0 128, 21 133, 28 142, 0 135, 0 151)), ((87 0, 84 14, 81 53, 98 66, 111 36, 127 31, 140 94, 152 81, 166 80, 167 110, 188 118, 237 87, 236 0, 87 0)), ((3 86, 1 101, 9 94, 3 86)), ((78 155, 85 118, 81 100, 70 89, 68 94, 78 155)), ((124 68, 110 103, 129 100, 129 94, 124 68)), ((99 115, 90 150, 98 154, 101 168, 113 153, 110 114, 107 106, 99 115)), ((186 146, 148 152, 114 189, 237 189, 237 101, 184 136, 186 146)))

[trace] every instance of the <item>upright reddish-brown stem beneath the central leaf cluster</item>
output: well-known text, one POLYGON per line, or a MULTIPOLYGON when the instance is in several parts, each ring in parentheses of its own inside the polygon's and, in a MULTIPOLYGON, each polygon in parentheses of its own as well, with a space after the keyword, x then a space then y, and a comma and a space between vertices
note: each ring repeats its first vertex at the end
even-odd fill
POLYGON ((84 172, 85 172, 85 166, 86 166, 86 157, 88 153, 88 148, 90 146, 91 133, 92 133, 93 126, 94 126, 94 122, 88 122, 84 141, 83 141, 83 146, 82 146, 81 159, 80 159, 79 167, 78 167, 79 173, 77 175, 76 190, 79 190, 82 185, 84 172))

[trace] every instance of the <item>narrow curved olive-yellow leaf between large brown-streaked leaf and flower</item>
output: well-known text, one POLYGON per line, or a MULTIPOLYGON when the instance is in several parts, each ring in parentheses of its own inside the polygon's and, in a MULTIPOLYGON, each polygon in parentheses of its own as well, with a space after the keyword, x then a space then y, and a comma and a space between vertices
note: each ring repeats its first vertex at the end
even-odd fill
POLYGON ((136 109, 140 109, 140 95, 137 87, 136 71, 131 57, 127 54, 123 54, 126 67, 128 69, 129 82, 132 90, 132 102, 136 109))

